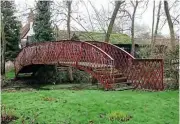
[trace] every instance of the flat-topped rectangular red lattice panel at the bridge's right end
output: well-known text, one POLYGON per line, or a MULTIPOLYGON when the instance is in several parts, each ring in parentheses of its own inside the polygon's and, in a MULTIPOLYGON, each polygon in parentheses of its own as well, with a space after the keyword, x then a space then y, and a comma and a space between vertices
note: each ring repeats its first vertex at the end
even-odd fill
POLYGON ((163 60, 134 59, 128 70, 128 80, 135 88, 163 90, 163 60))

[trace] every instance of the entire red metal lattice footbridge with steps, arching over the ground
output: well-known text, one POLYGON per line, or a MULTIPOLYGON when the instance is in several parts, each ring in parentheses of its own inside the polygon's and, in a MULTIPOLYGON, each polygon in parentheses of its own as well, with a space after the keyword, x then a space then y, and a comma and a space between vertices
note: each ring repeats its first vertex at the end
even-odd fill
POLYGON ((16 77, 19 73, 35 73, 42 65, 84 70, 105 89, 114 89, 117 83, 137 89, 164 89, 162 59, 135 59, 105 42, 61 40, 31 44, 15 60, 16 77))

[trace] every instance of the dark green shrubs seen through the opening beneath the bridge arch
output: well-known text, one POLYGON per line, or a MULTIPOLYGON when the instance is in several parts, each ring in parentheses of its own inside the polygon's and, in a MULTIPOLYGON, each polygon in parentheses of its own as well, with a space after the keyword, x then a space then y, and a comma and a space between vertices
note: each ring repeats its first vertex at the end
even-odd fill
MULTIPOLYGON (((40 84, 62 84, 70 83, 68 70, 59 71, 55 66, 43 66, 35 74, 35 78, 40 84)), ((85 71, 73 68, 73 82, 71 83, 91 83, 92 77, 85 71)))

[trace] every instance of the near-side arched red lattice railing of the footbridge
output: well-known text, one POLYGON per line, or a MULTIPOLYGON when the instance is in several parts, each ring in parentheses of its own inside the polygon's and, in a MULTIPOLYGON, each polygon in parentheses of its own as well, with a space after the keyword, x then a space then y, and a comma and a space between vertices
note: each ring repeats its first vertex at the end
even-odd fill
POLYGON ((35 43, 25 47, 15 60, 16 76, 30 65, 73 66, 94 76, 105 88, 111 88, 114 81, 114 59, 90 43, 81 41, 57 41, 35 43), (94 71, 110 69, 111 73, 94 71), (109 80, 107 80, 109 79, 109 80))

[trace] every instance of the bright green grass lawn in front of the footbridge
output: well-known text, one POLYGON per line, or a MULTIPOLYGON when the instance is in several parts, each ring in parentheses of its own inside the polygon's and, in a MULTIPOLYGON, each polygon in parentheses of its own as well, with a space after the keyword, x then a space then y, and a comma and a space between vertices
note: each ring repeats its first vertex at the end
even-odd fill
POLYGON ((2 104, 14 110, 17 124, 23 118, 27 124, 33 119, 39 124, 178 124, 178 91, 2 92, 2 104), (114 115, 131 118, 110 120, 114 115))

